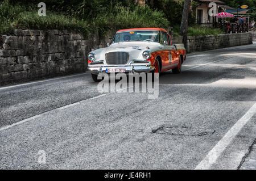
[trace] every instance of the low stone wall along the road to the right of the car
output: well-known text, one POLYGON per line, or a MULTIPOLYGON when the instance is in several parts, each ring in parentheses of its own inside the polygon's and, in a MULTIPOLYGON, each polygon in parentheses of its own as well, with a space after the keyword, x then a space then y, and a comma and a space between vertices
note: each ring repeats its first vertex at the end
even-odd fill
MULTIPOLYGON (((209 36, 188 36, 187 52, 201 52, 205 50, 220 49, 226 47, 235 47, 240 45, 252 44, 253 35, 247 33, 233 33, 225 35, 209 36)), ((173 44, 182 43, 181 37, 174 37, 173 44)))

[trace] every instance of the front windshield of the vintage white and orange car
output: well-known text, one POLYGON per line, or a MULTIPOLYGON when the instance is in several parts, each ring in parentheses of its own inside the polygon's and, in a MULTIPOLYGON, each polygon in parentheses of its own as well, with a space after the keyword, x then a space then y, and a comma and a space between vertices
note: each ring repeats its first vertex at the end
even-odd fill
POLYGON ((118 32, 112 43, 119 43, 125 41, 154 41, 159 42, 158 31, 125 31, 118 32))

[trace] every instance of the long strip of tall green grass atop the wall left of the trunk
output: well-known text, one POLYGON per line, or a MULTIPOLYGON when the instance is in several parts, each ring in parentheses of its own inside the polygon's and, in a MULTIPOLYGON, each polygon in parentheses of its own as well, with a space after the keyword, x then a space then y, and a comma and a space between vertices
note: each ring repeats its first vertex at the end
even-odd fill
POLYGON ((100 36, 109 30, 133 27, 168 27, 162 11, 150 7, 123 7, 116 5, 93 19, 81 19, 76 15, 56 14, 47 9, 46 16, 39 16, 38 9, 24 5, 11 5, 9 0, 0 4, 0 33, 10 34, 14 29, 76 30, 83 34, 98 30, 100 36))

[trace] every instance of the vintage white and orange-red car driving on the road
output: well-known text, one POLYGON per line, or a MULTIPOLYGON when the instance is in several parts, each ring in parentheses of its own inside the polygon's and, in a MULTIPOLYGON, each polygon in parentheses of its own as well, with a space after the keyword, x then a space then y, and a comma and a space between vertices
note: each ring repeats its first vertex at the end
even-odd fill
POLYGON ((162 28, 133 28, 115 33, 106 48, 88 54, 88 70, 94 81, 99 73, 155 72, 172 70, 177 74, 186 59, 183 44, 172 44, 162 28))

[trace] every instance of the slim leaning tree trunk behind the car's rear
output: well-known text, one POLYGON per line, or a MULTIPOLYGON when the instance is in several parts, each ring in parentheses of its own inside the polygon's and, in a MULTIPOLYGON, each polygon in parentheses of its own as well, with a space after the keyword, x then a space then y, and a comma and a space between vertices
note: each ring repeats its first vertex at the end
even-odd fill
POLYGON ((191 0, 185 0, 184 6, 183 6, 181 25, 180 25, 180 35, 183 36, 182 42, 185 45, 185 48, 187 48, 188 12, 189 12, 190 4, 191 4, 191 0))

